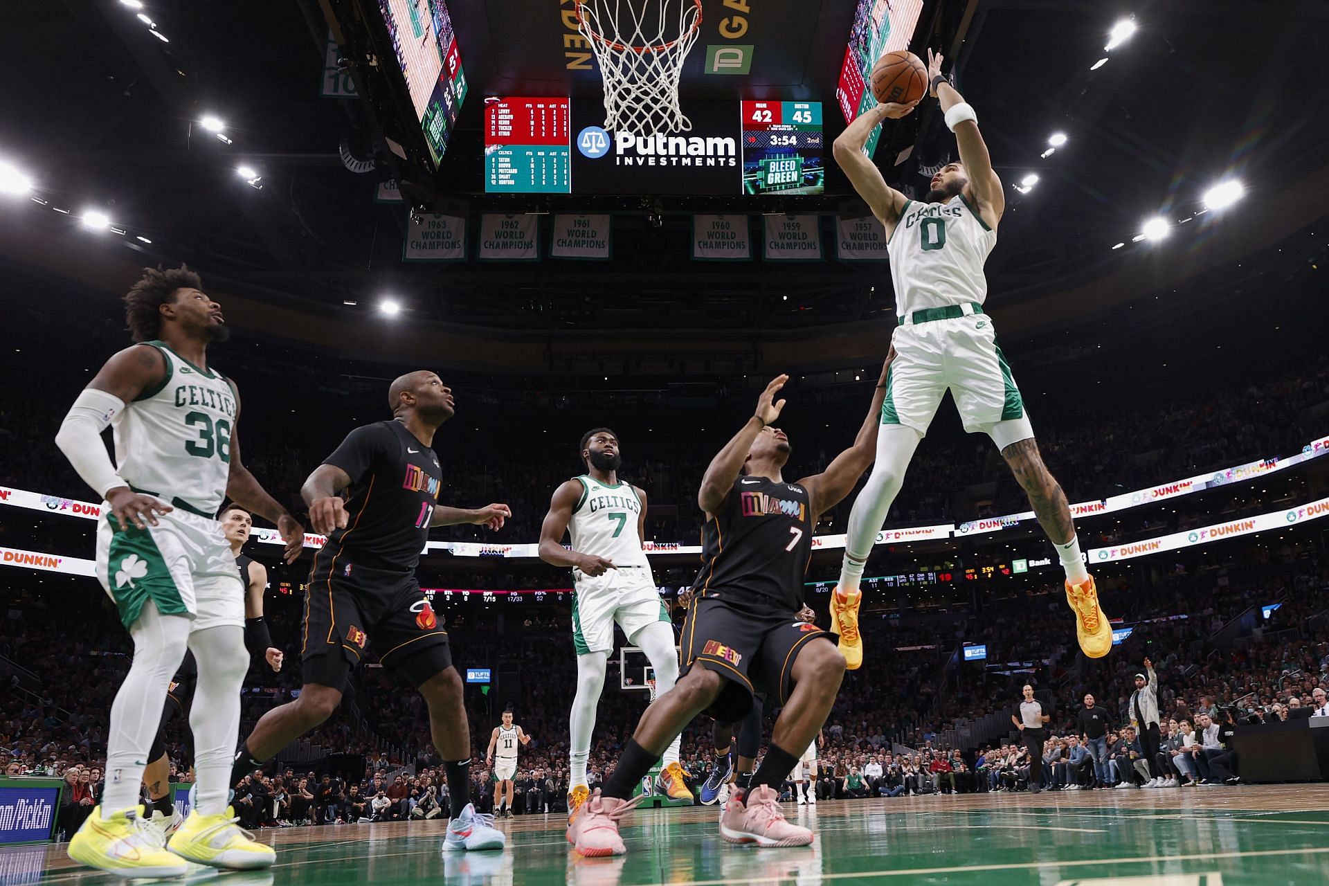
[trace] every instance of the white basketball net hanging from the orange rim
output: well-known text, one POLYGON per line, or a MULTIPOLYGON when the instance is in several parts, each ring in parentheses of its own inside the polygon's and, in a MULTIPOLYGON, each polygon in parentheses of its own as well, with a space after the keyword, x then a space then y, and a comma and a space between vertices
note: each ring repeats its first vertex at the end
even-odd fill
POLYGON ((678 81, 702 24, 702 0, 574 0, 605 80, 605 129, 686 133, 678 81))

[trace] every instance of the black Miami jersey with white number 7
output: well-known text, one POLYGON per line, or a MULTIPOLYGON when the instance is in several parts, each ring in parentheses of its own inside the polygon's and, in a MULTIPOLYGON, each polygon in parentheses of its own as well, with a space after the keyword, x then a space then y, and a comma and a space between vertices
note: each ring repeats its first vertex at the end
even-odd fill
POLYGON ((720 513, 702 529, 698 596, 759 603, 789 614, 803 607, 812 554, 808 490, 766 477, 739 477, 720 513))

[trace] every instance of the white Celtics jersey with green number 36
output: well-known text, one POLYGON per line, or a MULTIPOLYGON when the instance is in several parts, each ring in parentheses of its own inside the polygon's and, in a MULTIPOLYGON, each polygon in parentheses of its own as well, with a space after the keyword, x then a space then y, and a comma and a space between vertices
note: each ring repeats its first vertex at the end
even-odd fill
POLYGON ((231 469, 235 395, 221 373, 148 344, 166 359, 166 376, 112 418, 116 473, 133 489, 214 517, 231 469))

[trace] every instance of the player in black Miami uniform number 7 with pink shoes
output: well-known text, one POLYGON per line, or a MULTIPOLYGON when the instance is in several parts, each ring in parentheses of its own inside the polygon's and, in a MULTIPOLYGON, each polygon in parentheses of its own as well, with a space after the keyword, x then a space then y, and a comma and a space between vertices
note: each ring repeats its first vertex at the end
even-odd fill
POLYGON ((787 482, 789 440, 772 422, 788 376, 766 387, 748 418, 711 460, 696 501, 706 511, 702 571, 683 622, 683 676, 646 708, 603 789, 591 793, 567 825, 582 855, 626 851, 618 824, 635 805, 633 786, 698 713, 742 720, 756 692, 783 705, 771 747, 752 786, 734 790, 720 816, 727 842, 807 846, 812 832, 784 820, 775 786, 799 762, 825 723, 844 679, 844 656, 829 635, 797 619, 803 575, 817 518, 835 507, 872 464, 873 436, 885 396, 886 359, 872 408, 853 445, 824 473, 787 482))

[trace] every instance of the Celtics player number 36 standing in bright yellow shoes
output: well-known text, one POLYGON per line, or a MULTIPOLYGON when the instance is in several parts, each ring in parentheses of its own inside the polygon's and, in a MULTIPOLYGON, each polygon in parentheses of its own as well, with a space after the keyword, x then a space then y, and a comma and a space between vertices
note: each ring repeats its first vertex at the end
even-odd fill
POLYGON ((134 344, 101 368, 65 416, 56 445, 105 498, 97 522, 97 578, 134 640, 110 708, 106 790, 69 841, 69 857, 120 877, 179 877, 185 859, 267 867, 275 855, 235 826, 227 806, 241 724, 245 588, 213 518, 230 495, 276 523, 295 559, 304 527, 241 462, 235 385, 207 365, 226 337, 222 310, 179 267, 146 270, 125 296, 134 344), (101 433, 113 429, 116 462, 101 433), (186 647, 198 662, 194 733, 197 804, 163 846, 138 805, 171 675, 186 647), (169 851, 167 851, 169 850, 169 851))

